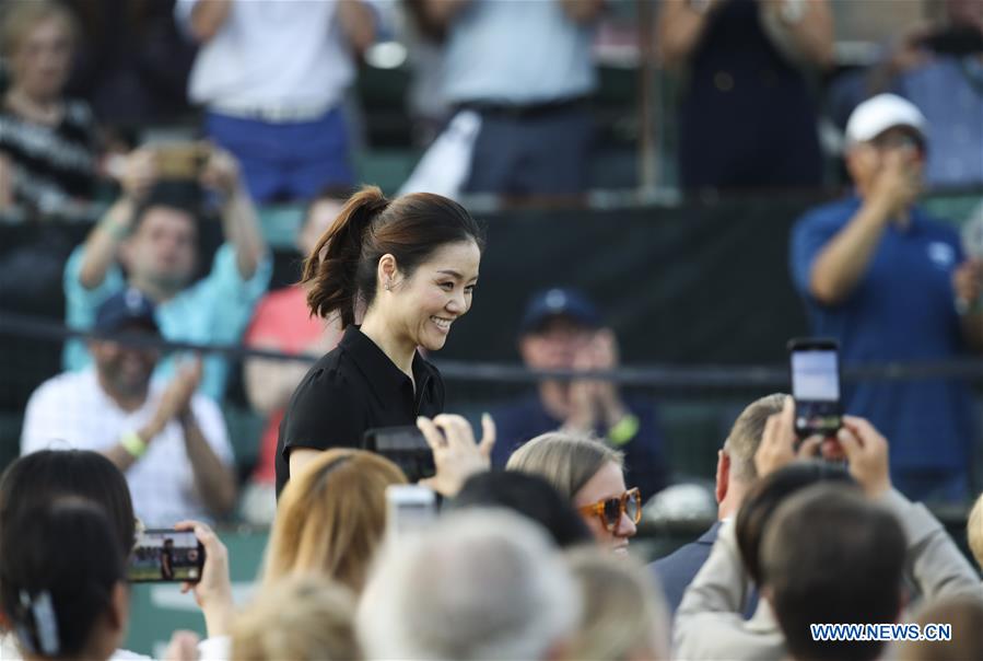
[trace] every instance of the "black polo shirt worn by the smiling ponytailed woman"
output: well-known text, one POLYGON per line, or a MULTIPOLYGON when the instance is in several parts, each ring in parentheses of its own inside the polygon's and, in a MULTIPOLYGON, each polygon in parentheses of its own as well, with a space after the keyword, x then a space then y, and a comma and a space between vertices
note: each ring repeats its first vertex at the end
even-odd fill
POLYGON ((416 425, 417 416, 444 410, 444 381, 435 367, 413 356, 413 383, 355 326, 323 356, 294 391, 277 441, 277 496, 290 479, 293 448, 360 448, 374 427, 416 425))

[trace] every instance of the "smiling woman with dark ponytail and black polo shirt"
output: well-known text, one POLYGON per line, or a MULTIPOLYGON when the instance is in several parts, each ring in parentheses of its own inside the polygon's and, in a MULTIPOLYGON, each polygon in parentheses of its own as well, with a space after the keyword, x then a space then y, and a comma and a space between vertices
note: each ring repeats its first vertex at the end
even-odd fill
POLYGON ((418 347, 436 351, 471 306, 484 230, 440 195, 353 195, 304 263, 311 313, 344 336, 297 386, 280 426, 277 494, 329 448, 358 448, 376 427, 444 408, 444 383, 418 347), (361 322, 361 325, 358 325, 361 322))

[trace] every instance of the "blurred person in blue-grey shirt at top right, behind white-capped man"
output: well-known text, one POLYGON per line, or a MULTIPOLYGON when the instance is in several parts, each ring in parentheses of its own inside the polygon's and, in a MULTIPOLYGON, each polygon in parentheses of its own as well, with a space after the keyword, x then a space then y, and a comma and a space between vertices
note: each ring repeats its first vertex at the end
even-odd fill
POLYGON ((869 69, 839 79, 832 112, 843 121, 864 100, 892 92, 927 118, 931 186, 983 183, 983 0, 945 0, 939 24, 918 25, 869 69))

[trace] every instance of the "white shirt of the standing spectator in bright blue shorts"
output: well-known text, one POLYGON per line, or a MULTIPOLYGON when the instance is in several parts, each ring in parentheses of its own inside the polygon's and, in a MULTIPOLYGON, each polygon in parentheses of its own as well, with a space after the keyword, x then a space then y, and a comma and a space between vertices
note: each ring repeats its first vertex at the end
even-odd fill
MULTIPOLYGON (((200 0, 177 0, 186 30, 200 0)), ((354 79, 336 0, 238 0, 202 44, 188 96, 213 109, 324 108, 338 105, 354 79)))

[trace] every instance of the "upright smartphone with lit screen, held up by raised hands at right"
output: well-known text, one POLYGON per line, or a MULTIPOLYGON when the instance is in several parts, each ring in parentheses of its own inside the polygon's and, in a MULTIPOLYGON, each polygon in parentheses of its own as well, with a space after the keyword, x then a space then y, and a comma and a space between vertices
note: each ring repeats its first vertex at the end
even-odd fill
POLYGON ((799 438, 835 437, 840 429, 840 355, 834 339, 799 338, 788 343, 795 432, 799 438))

